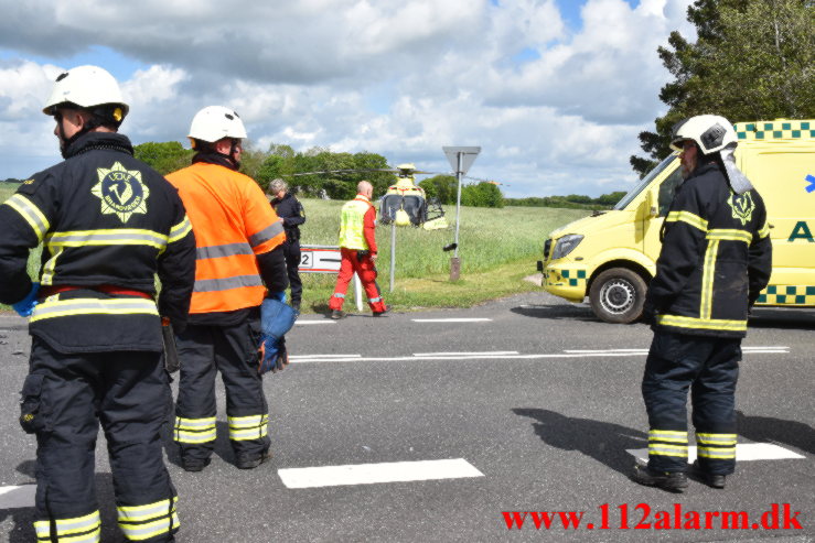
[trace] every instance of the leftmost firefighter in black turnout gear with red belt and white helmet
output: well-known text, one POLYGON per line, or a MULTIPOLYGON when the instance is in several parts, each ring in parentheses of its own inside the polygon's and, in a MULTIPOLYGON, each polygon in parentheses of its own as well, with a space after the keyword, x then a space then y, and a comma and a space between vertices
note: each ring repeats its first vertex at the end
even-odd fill
POLYGON ((31 317, 20 423, 37 442, 36 541, 99 541, 99 422, 125 537, 173 541, 161 318, 185 325, 195 239, 176 192, 116 133, 128 106, 110 74, 79 66, 60 75, 44 112, 65 161, 0 205, 0 302, 31 317), (26 259, 40 243, 32 283, 26 259))

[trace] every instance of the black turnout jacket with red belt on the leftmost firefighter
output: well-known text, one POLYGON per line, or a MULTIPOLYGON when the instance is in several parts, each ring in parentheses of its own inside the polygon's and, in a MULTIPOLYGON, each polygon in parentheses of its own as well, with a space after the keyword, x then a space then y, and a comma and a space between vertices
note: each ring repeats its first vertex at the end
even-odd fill
POLYGON ((178 192, 121 134, 83 134, 66 155, 0 205, 0 302, 29 293, 29 251, 42 245, 33 336, 60 352, 160 351, 160 315, 183 329, 195 281, 178 192))

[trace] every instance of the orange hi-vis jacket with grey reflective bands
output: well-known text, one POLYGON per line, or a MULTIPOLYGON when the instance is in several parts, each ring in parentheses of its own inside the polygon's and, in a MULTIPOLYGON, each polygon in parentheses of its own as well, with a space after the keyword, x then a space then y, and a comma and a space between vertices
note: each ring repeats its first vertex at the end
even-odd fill
POLYGON ((205 162, 167 180, 179 189, 197 246, 190 313, 259 306, 266 287, 255 256, 286 240, 264 192, 250 177, 205 162))

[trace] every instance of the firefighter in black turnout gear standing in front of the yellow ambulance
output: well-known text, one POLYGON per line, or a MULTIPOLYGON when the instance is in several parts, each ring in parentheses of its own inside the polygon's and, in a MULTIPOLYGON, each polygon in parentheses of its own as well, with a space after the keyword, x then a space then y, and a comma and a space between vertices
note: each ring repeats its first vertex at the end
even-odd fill
POLYGON ((747 318, 770 280, 766 209, 737 169, 732 124, 691 117, 674 128, 685 182, 662 231, 662 252, 645 300, 652 321, 642 394, 648 413, 648 464, 635 481, 687 487, 688 389, 699 476, 725 488, 736 468, 734 393, 747 318))

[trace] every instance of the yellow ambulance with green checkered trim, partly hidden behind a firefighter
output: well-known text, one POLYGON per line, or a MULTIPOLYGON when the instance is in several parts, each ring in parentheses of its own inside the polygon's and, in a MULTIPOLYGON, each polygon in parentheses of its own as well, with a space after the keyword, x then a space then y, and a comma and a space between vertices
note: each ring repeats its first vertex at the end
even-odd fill
MULTIPOLYGON (((815 120, 741 122, 736 160, 764 198, 773 272, 759 305, 815 306, 815 120)), ((642 314, 656 272, 659 228, 682 183, 678 153, 659 163, 613 209, 594 211, 550 234, 543 284, 570 302, 589 297, 608 323, 642 314)))

